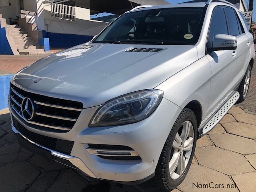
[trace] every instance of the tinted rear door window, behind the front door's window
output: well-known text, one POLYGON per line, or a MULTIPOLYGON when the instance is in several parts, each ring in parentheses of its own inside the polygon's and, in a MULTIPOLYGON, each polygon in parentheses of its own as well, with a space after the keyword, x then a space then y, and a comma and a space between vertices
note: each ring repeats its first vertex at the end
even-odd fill
POLYGON ((233 36, 240 35, 235 10, 231 8, 225 8, 225 10, 228 18, 230 35, 233 35, 233 36))

